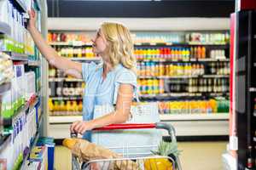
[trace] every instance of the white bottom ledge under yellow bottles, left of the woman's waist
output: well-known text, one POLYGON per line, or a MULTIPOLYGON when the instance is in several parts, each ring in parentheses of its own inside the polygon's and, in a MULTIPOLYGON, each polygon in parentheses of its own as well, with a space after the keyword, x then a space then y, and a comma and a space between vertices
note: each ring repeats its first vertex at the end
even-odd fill
POLYGON ((49 116, 49 123, 73 123, 82 121, 83 116, 49 116))

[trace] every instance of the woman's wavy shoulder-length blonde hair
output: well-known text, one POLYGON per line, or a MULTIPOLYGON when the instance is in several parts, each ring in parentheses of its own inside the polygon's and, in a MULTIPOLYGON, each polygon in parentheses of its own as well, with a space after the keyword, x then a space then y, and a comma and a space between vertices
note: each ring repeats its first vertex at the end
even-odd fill
POLYGON ((136 57, 133 55, 131 32, 119 23, 104 22, 101 31, 108 43, 108 56, 113 66, 122 64, 125 68, 136 70, 136 57))

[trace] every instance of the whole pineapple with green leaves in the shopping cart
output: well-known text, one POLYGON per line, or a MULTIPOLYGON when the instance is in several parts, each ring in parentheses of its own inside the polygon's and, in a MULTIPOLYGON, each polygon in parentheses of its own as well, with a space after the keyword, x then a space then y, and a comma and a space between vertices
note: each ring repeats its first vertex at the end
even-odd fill
MULTIPOLYGON (((179 155, 177 150, 177 142, 161 141, 157 151, 152 151, 156 156, 172 156, 175 158, 179 155)), ((174 160, 175 161, 175 160, 174 160)), ((151 158, 144 162, 145 170, 172 170, 172 161, 166 158, 151 158)))

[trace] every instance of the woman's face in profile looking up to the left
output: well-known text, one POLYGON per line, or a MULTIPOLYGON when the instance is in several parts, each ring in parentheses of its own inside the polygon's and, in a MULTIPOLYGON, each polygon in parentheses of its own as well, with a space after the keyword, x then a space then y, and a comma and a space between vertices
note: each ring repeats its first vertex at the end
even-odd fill
POLYGON ((96 32, 96 37, 91 40, 92 43, 92 52, 95 54, 103 54, 107 48, 107 40, 102 34, 101 29, 96 32))

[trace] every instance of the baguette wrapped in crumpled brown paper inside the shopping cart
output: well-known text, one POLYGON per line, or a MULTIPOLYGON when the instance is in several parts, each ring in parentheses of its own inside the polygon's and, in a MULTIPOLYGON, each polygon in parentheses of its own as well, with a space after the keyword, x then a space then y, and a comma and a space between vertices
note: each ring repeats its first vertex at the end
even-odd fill
MULTIPOLYGON (((66 139, 68 140, 68 139, 66 139)), ((72 153, 74 156, 79 157, 80 161, 93 161, 93 160, 102 160, 102 159, 115 159, 122 158, 118 154, 114 153, 111 150, 105 149, 102 146, 93 144, 84 139, 70 139, 70 141, 75 141, 73 144, 72 153)), ((65 143, 65 142, 64 142, 65 143)), ((136 162, 134 161, 107 161, 104 163, 104 167, 108 164, 109 170, 138 170, 140 169, 136 162)), ((93 163, 96 167, 102 167, 101 163, 93 163)), ((102 169, 102 168, 100 168, 102 169)))

